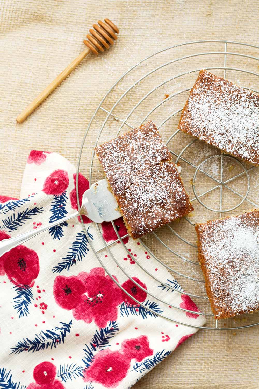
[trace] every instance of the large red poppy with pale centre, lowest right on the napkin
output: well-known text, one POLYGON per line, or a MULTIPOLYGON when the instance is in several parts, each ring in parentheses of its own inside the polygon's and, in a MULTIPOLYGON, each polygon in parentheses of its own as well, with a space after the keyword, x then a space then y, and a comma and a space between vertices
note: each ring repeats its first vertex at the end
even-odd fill
POLYGON ((104 387, 113 388, 127 376, 130 359, 119 351, 102 350, 85 370, 84 381, 94 381, 104 387))

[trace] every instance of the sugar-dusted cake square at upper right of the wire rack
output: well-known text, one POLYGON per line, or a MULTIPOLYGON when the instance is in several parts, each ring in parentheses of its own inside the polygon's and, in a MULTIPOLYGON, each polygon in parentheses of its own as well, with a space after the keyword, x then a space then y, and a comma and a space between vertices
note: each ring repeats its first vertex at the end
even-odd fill
POLYGON ((259 165, 259 95, 207 70, 200 71, 178 128, 259 165))

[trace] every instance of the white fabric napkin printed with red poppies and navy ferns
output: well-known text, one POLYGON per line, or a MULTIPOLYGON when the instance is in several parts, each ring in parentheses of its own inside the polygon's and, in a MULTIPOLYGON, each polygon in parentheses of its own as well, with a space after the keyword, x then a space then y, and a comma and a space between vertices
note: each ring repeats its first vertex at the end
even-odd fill
MULTIPOLYGON (((36 229, 76 209, 75 167, 56 153, 31 151, 21 196, 0 196, 0 239, 36 229)), ((79 192, 89 187, 80 175, 79 192)), ((129 388, 160 363, 197 328, 163 319, 137 306, 104 272, 158 314, 202 326, 205 319, 181 286, 138 241, 125 238, 135 261, 120 243, 110 246, 120 270, 104 247, 115 240, 111 223, 103 238, 84 217, 45 231, 0 258, 0 388, 129 388), (159 285, 137 263, 175 290, 159 285), (168 301, 168 306, 155 300, 168 301)), ((116 222, 120 236, 126 229, 116 222)))

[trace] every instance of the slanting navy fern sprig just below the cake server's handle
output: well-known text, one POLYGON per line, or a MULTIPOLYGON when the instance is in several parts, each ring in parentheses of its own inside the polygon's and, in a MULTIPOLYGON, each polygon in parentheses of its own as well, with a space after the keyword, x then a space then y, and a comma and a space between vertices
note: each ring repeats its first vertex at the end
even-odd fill
MULTIPOLYGON (((90 234, 88 230, 89 227, 87 228, 88 238, 94 240, 92 234, 90 234)), ((70 247, 66 253, 66 256, 62 258, 62 261, 59 262, 57 266, 52 268, 52 272, 61 273, 63 270, 69 271, 71 266, 76 265, 77 262, 82 261, 89 251, 87 244, 88 240, 84 231, 78 232, 75 241, 72 243, 72 247, 70 247)))

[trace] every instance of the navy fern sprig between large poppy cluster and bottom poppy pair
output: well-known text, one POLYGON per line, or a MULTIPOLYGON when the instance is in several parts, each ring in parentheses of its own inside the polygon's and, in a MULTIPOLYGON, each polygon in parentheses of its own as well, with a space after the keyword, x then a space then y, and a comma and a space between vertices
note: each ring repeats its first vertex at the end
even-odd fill
POLYGON ((94 354, 97 349, 102 350, 104 347, 108 347, 109 341, 119 331, 118 323, 116 321, 110 321, 107 327, 101 328, 100 331, 96 330, 94 336, 89 345, 85 345, 85 356, 82 359, 86 367, 90 366, 90 363, 94 359, 94 354))

